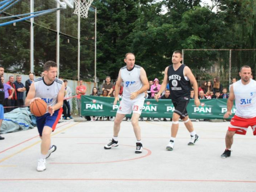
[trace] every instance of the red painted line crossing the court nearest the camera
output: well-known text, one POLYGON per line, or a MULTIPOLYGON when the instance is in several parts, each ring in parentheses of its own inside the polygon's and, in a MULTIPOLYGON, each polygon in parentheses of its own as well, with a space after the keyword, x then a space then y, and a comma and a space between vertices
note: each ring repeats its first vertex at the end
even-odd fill
POLYGON ((167 182, 229 182, 229 183, 256 183, 256 181, 238 180, 190 180, 190 179, 92 179, 92 178, 23 178, 23 179, 0 179, 0 181, 167 181, 167 182))

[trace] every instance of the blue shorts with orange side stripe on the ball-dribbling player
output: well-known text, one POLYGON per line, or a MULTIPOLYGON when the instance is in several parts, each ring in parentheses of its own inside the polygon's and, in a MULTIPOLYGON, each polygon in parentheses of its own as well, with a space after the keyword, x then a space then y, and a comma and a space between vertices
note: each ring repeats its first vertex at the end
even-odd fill
POLYGON ((63 109, 60 108, 56 110, 54 114, 51 116, 50 113, 46 113, 41 117, 36 117, 37 129, 40 137, 42 136, 42 130, 44 130, 45 126, 49 126, 52 128, 52 131, 55 130, 56 125, 62 115, 63 109))

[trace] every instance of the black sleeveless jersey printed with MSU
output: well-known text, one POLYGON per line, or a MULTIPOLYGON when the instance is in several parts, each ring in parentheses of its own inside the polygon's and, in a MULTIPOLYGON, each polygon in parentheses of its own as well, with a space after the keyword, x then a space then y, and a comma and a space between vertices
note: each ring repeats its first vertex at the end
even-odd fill
POLYGON ((170 98, 173 102, 177 102, 180 99, 189 100, 191 84, 189 79, 185 79, 183 71, 185 65, 181 65, 176 71, 173 65, 169 66, 167 75, 170 87, 170 98))

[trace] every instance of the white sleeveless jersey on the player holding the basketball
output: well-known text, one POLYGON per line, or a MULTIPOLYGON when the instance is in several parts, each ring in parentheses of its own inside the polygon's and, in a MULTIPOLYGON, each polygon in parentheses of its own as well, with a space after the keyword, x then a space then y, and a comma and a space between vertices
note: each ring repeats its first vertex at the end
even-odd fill
MULTIPOLYGON (((49 86, 45 83, 43 77, 39 77, 34 81, 35 97, 40 97, 48 106, 53 106, 57 103, 57 96, 63 84, 63 81, 55 78, 49 86)), ((48 111, 48 110, 47 110, 48 111)))

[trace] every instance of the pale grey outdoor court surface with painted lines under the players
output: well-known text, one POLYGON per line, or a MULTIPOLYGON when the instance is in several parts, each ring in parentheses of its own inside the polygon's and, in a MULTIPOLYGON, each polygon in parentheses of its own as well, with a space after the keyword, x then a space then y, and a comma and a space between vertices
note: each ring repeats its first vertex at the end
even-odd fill
POLYGON ((256 191, 255 137, 235 135, 231 157, 222 159, 229 122, 193 122, 194 146, 180 122, 174 151, 166 151, 172 122, 140 121, 143 153, 129 121, 121 123, 119 146, 104 150, 113 121, 58 123, 57 146, 45 172, 37 172, 37 129, 3 135, 0 191, 256 191))

